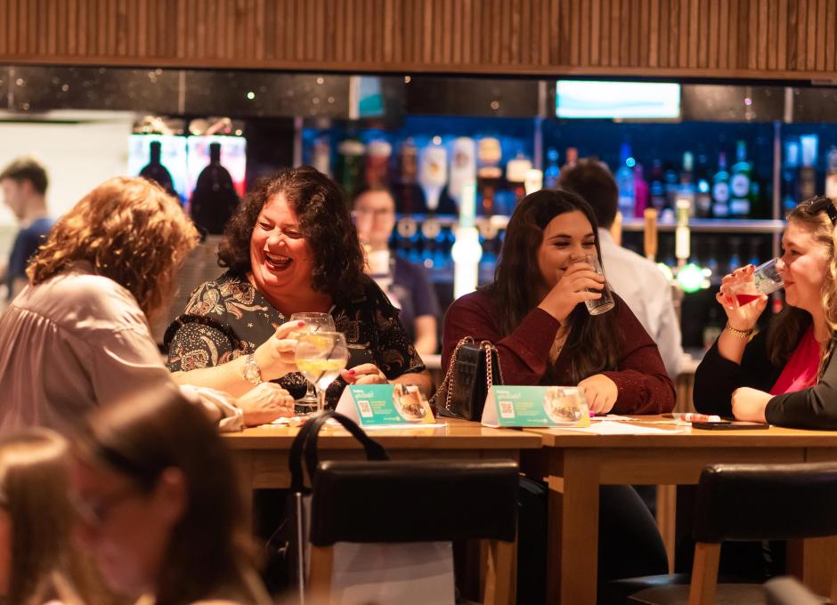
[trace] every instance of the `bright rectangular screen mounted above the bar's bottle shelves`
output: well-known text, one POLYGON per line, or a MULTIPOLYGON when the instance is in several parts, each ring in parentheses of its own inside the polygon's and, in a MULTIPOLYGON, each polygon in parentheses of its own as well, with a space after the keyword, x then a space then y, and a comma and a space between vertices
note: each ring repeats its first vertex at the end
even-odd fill
POLYGON ((680 85, 660 82, 558 80, 557 117, 677 119, 680 85))

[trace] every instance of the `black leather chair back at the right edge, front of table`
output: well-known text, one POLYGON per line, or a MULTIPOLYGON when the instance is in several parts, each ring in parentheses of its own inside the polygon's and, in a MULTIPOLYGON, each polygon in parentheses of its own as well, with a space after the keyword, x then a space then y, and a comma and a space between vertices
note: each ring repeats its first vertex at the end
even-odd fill
POLYGON ((837 463, 711 465, 693 534, 705 543, 837 535, 837 463))

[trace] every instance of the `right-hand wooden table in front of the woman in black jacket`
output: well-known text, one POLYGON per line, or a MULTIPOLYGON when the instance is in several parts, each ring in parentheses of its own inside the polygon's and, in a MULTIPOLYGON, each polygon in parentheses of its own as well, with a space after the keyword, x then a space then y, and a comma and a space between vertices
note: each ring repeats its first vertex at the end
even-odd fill
MULTIPOLYGON (((661 420, 642 416, 643 421, 661 420)), ((658 428, 678 427, 655 424, 658 428)), ((544 449, 524 453, 524 471, 549 483, 550 603, 595 605, 598 492, 603 484, 697 483, 707 464, 837 461, 837 434, 771 427, 763 431, 699 431, 654 435, 595 435, 532 429, 544 449)), ((770 503, 765 503, 769 506, 770 503)), ((789 569, 821 594, 830 589, 837 546, 806 540, 789 569)))

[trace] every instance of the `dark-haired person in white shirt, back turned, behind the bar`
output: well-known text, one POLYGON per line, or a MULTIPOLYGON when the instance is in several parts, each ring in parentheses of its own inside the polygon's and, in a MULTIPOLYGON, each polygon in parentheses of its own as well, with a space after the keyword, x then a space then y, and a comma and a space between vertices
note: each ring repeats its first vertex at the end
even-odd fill
POLYGON ((585 158, 561 171, 558 187, 574 191, 592 206, 598 222, 602 262, 607 267, 607 282, 657 343, 662 363, 674 380, 679 373, 683 347, 671 286, 654 262, 614 241, 610 229, 619 207, 619 189, 613 175, 598 160, 585 158))

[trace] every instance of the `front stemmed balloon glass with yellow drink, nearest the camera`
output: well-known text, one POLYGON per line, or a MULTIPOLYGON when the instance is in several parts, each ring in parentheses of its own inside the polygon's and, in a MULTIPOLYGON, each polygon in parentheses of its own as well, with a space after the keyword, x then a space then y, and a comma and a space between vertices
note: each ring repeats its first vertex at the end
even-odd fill
POLYGON ((340 375, 349 360, 349 348, 342 332, 313 332, 299 336, 297 368, 317 391, 317 411, 325 408, 326 389, 340 375))

